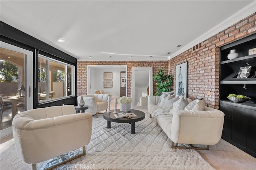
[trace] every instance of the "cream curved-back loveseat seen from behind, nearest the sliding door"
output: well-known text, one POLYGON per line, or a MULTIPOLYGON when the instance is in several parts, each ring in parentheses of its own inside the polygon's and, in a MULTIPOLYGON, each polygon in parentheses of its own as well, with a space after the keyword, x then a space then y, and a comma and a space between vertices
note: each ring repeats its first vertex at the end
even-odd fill
POLYGON ((80 147, 83 153, 79 156, 85 155, 92 135, 91 113, 76 114, 73 105, 23 111, 14 117, 12 125, 18 156, 33 164, 33 170, 39 162, 80 147))

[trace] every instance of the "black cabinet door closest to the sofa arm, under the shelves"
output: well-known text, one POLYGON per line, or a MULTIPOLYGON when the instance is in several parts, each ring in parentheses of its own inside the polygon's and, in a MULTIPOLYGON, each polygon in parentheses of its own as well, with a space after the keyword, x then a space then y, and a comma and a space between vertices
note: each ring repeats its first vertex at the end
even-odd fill
POLYGON ((232 139, 232 106, 220 104, 220 110, 225 114, 222 135, 232 139))

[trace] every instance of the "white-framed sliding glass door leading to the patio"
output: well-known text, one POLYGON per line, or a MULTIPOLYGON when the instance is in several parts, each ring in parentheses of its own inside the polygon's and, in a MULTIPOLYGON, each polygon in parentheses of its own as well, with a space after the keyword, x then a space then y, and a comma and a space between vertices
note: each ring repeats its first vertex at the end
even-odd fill
POLYGON ((1 41, 1 137, 12 133, 12 119, 33 108, 33 52, 1 41))

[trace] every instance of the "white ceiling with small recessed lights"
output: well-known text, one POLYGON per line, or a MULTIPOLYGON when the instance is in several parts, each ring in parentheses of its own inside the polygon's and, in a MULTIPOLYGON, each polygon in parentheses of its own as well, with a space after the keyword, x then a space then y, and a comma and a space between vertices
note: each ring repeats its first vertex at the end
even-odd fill
POLYGON ((1 0, 0 6, 1 21, 78 61, 168 60, 256 12, 255 0, 1 0))

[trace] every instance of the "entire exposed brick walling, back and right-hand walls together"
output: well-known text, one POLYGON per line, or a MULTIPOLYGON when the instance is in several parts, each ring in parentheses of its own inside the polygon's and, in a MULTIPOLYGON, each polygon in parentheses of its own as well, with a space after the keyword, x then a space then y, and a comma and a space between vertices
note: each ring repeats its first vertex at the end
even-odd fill
MULTIPOLYGON (((166 73, 174 75, 175 84, 176 65, 188 61, 188 97, 193 100, 204 98, 207 106, 218 109, 220 47, 254 33, 256 33, 256 13, 169 61, 78 61, 78 96, 87 93, 87 65, 127 65, 127 96, 131 96, 132 67, 153 67, 153 75, 157 74, 158 68, 163 67, 166 73), (206 95, 206 90, 210 90, 210 96, 206 95)), ((155 83, 153 87, 155 93, 155 83)), ((175 85, 173 88, 175 90, 175 85)))

